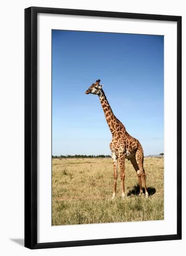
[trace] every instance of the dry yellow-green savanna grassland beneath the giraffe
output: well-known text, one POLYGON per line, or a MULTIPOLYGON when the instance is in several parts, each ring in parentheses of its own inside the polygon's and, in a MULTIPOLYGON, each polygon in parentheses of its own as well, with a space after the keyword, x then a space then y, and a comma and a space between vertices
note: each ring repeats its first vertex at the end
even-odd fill
POLYGON ((126 197, 121 198, 120 168, 117 197, 112 200, 111 158, 52 160, 52 224, 131 222, 164 218, 163 158, 144 159, 149 197, 138 196, 138 177, 126 160, 126 197))

